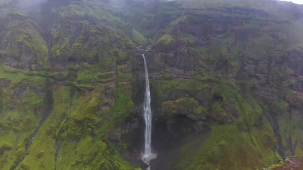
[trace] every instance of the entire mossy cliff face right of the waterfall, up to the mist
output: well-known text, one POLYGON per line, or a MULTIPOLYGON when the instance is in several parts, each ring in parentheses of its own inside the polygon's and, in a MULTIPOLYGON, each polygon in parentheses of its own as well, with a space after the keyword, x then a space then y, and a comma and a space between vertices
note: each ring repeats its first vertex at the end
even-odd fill
POLYGON ((170 124, 185 115, 193 131, 210 133, 203 144, 181 144, 171 168, 255 169, 302 155, 300 6, 190 1, 180 8, 148 53, 157 116, 170 124))

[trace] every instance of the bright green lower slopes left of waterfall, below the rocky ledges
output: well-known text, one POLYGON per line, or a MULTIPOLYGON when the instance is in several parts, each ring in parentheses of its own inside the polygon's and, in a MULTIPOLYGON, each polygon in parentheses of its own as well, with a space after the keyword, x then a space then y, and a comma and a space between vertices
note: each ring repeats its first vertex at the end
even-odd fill
MULTIPOLYGON (((83 68, 77 65, 70 65, 66 72, 24 71, 2 65, 0 78, 7 80, 11 84, 11 87, 1 90, 4 93, 4 95, 1 93, 1 100, 3 100, 1 103, 6 106, 3 108, 5 115, 6 113, 10 116, 20 115, 20 110, 13 113, 12 111, 8 112, 7 108, 14 108, 14 104, 22 101, 24 104, 26 103, 26 109, 28 108, 29 111, 29 113, 25 113, 24 111, 23 113, 28 114, 27 117, 30 118, 24 118, 23 116, 24 121, 26 120, 23 123, 26 124, 26 128, 24 129, 29 128, 28 132, 23 130, 22 132, 17 131, 14 133, 18 129, 18 127, 14 126, 19 125, 9 124, 6 126, 6 124, 1 124, 1 127, 2 125, 4 126, 3 129, 1 128, 1 133, 5 134, 2 135, 4 139, 4 147, 2 148, 5 151, 3 157, 1 157, 1 162, 3 163, 1 164, 1 168, 4 170, 11 167, 17 167, 17 169, 52 170, 55 166, 61 166, 64 169, 74 169, 69 167, 78 163, 72 159, 74 157, 69 158, 70 153, 73 153, 71 150, 76 147, 77 143, 92 146, 91 143, 86 144, 87 141, 82 142, 84 134, 88 134, 89 138, 93 139, 93 141, 106 141, 112 130, 117 127, 117 124, 131 114, 135 108, 130 92, 133 81, 132 74, 130 74, 130 65, 117 66, 115 60, 111 59, 109 61, 113 63, 110 67, 106 62, 95 65, 83 64, 81 65, 83 68), (115 68, 116 66, 117 68, 115 68), (40 127, 42 118, 36 116, 44 108, 39 107, 45 105, 43 98, 41 99, 39 96, 41 96, 40 92, 44 91, 46 78, 51 79, 54 84, 60 83, 54 85, 53 112, 40 127), (63 85, 72 86, 62 86, 62 83, 63 85), (13 98, 13 102, 10 102, 10 94, 14 93, 15 89, 17 90, 17 88, 22 88, 23 86, 27 86, 27 88, 22 93, 21 98, 17 100, 13 98), (43 88, 41 89, 39 86, 43 88), (110 101, 111 99, 108 98, 110 97, 107 96, 108 94, 104 94, 104 89, 105 87, 108 88, 108 86, 112 89, 110 90, 112 93, 109 95, 114 95, 114 102, 110 101), (84 91, 84 93, 77 93, 76 89, 80 91, 93 91, 85 95, 84 91), (100 110, 100 108, 102 109, 100 110), (31 114, 31 110, 35 110, 35 112, 31 114), (35 122, 28 123, 27 120, 35 120, 35 122), (15 130, 7 132, 6 127, 13 127, 15 130), (37 130, 37 134, 33 138, 29 138, 35 130, 37 130), (23 135, 20 136, 20 133, 23 135), (13 145, 7 147, 6 143, 13 143, 13 141, 19 141, 15 144, 18 146, 17 149, 13 145), (62 151, 60 148, 62 148, 62 151), (68 157, 68 161, 59 165, 59 163, 56 163, 56 159, 59 159, 59 156, 68 157), (19 163, 19 161, 21 162, 19 163), (33 162, 37 164, 33 164, 33 162)), ((23 107, 20 107, 20 109, 26 110, 23 107)), ((5 119, 4 117, 3 120, 5 119)), ((19 124, 22 124, 23 121, 18 120, 20 121, 19 124)), ((95 144, 95 142, 93 143, 95 144)), ((111 149, 108 148, 105 142, 99 142, 92 148, 97 149, 98 153, 102 152, 101 155, 99 154, 100 158, 103 159, 102 164, 97 161, 92 163, 91 158, 95 157, 95 155, 88 154, 85 158, 81 157, 83 163, 81 163, 81 166, 80 164, 77 166, 79 169, 91 167, 91 164, 97 169, 98 167, 99 169, 107 167, 109 170, 135 169, 129 163, 122 160, 119 154, 117 155, 117 152, 112 151, 113 147, 111 149)))

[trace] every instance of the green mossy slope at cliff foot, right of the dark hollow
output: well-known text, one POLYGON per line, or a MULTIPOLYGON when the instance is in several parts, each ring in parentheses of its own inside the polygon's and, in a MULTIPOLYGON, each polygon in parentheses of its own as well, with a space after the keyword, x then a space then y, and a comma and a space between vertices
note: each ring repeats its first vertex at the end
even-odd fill
POLYGON ((214 125, 210 136, 202 146, 198 146, 198 149, 194 147, 194 141, 181 147, 179 154, 185 157, 179 159, 177 166, 173 168, 261 170, 268 163, 274 163, 280 156, 269 148, 275 144, 270 138, 273 135, 270 127, 254 131, 262 133, 255 136, 247 132, 239 132, 235 125, 214 125), (270 160, 267 160, 269 158, 270 160))

